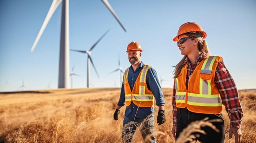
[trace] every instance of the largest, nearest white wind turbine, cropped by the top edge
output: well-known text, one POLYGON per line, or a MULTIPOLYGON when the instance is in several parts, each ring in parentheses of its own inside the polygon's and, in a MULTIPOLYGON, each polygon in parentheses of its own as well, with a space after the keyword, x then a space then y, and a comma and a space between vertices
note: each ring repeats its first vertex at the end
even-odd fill
MULTIPOLYGON (((36 37, 36 40, 31 48, 31 52, 34 51, 36 44, 38 43, 40 37, 42 36, 45 27, 47 26, 49 20, 52 18, 53 13, 62 2, 61 11, 61 42, 60 42, 60 57, 59 57, 59 69, 58 69, 58 88, 69 88, 69 66, 70 66, 70 30, 69 30, 69 0, 53 0, 51 7, 46 15, 45 21, 36 37)), ((112 9, 108 0, 102 0, 102 2, 108 7, 112 15, 116 18, 119 24, 124 29, 115 11, 112 9)), ((124 31, 126 31, 124 29, 124 31)))

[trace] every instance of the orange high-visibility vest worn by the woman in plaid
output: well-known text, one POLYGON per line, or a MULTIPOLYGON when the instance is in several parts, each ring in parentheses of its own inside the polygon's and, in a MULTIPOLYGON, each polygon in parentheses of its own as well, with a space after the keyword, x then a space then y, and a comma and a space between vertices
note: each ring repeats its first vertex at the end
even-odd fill
POLYGON ((175 78, 176 107, 187 108, 191 112, 204 114, 220 114, 222 101, 220 92, 214 83, 215 71, 222 57, 210 56, 203 59, 192 73, 188 89, 186 89, 186 67, 175 78))

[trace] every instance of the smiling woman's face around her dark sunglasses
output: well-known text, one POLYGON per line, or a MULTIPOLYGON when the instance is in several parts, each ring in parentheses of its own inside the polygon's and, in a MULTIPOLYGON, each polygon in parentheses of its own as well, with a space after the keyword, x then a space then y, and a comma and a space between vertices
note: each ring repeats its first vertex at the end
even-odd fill
MULTIPOLYGON (((189 37, 189 36, 180 35, 179 40, 184 37, 189 37)), ((186 39, 183 44, 180 44, 179 42, 177 46, 180 49, 181 55, 189 55, 195 49, 195 42, 193 39, 186 39)))

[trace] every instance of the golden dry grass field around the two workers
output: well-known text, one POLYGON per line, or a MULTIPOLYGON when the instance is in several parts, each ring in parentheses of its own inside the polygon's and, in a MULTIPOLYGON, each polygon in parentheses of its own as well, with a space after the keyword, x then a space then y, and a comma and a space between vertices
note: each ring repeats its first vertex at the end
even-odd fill
MULTIPOLYGON (((124 110, 119 120, 113 113, 119 88, 59 89, 0 93, 0 143, 120 143, 124 110)), ((172 89, 164 88, 166 123, 158 126, 158 143, 174 143, 172 89)), ((244 117, 243 143, 256 143, 256 91, 239 91, 244 117)), ((156 107, 156 111, 158 108, 156 107)), ((224 111, 226 143, 229 118, 224 111)), ((135 132, 134 143, 143 143, 135 132)))

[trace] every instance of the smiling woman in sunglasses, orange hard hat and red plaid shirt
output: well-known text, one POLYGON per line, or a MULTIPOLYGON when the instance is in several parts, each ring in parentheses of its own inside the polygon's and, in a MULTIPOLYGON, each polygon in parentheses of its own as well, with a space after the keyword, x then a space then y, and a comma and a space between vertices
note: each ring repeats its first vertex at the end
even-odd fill
POLYGON ((189 123, 206 117, 222 119, 223 122, 213 122, 220 132, 202 128, 206 135, 200 134, 197 140, 224 143, 225 125, 221 114, 224 105, 230 118, 229 138, 234 134, 235 143, 240 143, 243 111, 238 91, 222 57, 210 56, 206 36, 199 24, 187 22, 173 38, 184 57, 175 66, 172 134, 176 139, 189 123))

